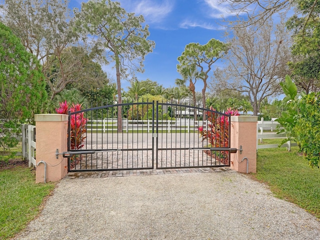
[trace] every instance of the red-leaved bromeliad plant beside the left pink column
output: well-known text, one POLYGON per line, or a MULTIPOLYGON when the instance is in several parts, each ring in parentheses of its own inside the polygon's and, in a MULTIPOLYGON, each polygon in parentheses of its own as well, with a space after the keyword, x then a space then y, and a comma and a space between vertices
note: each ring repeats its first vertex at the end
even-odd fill
MULTIPOLYGON (((60 107, 55 108, 55 111, 59 114, 68 114, 70 112, 80 111, 81 104, 72 104, 69 109, 69 105, 66 101, 60 102, 60 107)), ((70 116, 70 148, 80 149, 83 147, 83 142, 85 139, 85 124, 86 118, 83 116, 83 112, 71 114, 70 116)))

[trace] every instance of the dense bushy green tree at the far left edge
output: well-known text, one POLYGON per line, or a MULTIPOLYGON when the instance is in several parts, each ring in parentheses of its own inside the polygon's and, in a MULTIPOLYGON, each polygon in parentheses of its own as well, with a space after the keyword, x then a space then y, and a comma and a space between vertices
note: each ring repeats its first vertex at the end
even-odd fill
POLYGON ((17 141, 20 124, 33 121, 46 102, 41 65, 27 52, 21 40, 0 22, 0 147, 6 149, 17 141))

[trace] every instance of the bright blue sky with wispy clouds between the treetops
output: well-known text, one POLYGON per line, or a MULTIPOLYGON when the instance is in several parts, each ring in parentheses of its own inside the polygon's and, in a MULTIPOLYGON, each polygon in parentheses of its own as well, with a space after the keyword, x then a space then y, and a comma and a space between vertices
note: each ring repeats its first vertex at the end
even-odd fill
MULTIPOLYGON (((155 41, 153 52, 145 57, 144 73, 137 73, 138 80, 149 78, 163 87, 174 86, 175 78, 180 77, 176 71, 177 57, 181 55, 186 44, 199 42, 205 44, 215 38, 224 41, 225 29, 221 25, 221 15, 228 17, 227 4, 218 4, 218 0, 118 0, 127 12, 142 14, 149 25, 148 39, 155 41)), ((71 0, 71 7, 80 8, 81 0, 71 0)), ((221 66, 221 61, 215 66, 221 66)), ((103 67, 115 80, 115 70, 103 67)), ((123 80, 121 86, 127 90, 129 82, 123 80)), ((196 91, 201 91, 200 82, 196 91)))

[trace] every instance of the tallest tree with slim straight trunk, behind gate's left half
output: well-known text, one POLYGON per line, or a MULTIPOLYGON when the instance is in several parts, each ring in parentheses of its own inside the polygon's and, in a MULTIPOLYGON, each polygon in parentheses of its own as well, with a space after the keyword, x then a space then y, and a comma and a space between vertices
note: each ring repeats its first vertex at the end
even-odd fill
MULTIPOLYGON (((121 98, 121 76, 127 70, 143 71, 144 56, 154 48, 148 40, 148 25, 142 26, 142 15, 135 16, 120 7, 119 2, 99 0, 82 2, 81 12, 75 12, 78 29, 92 36, 97 48, 105 49, 104 57, 114 62, 118 102, 121 98)), ((122 131, 121 108, 118 108, 118 131, 122 131)))

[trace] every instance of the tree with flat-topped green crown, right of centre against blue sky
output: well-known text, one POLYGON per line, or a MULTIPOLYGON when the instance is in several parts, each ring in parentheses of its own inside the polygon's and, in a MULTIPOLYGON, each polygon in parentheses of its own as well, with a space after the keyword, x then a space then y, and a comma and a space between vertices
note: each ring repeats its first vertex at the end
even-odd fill
POLYGON ((228 45, 216 40, 210 39, 206 44, 191 42, 184 48, 182 54, 177 58, 179 64, 178 69, 183 67, 191 67, 195 65, 200 72, 199 78, 203 81, 202 88, 202 105, 205 107, 205 90, 207 86, 207 78, 211 71, 212 64, 219 58, 223 57, 228 51, 228 45))

